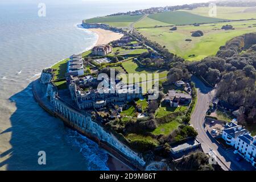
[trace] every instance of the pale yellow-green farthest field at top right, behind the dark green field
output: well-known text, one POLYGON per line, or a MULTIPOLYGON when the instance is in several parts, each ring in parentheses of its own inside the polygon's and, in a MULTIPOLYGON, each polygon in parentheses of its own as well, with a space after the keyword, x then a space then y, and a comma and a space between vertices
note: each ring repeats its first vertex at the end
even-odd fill
MULTIPOLYGON (((209 16, 209 7, 199 7, 193 10, 182 10, 201 16, 209 16)), ((256 18, 256 8, 254 7, 223 7, 217 6, 216 18, 230 20, 256 18)))

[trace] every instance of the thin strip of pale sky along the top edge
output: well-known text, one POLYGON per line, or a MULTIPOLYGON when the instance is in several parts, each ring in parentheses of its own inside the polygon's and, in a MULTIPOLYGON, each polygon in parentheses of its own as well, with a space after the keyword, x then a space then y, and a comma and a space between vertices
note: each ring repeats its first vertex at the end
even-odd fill
POLYGON ((172 6, 172 5, 184 5, 197 2, 208 2, 208 0, 1 0, 0 3, 11 4, 11 3, 49 3, 49 4, 78 4, 78 3, 91 3, 91 2, 106 2, 109 3, 135 3, 142 4, 146 3, 151 6, 172 6))

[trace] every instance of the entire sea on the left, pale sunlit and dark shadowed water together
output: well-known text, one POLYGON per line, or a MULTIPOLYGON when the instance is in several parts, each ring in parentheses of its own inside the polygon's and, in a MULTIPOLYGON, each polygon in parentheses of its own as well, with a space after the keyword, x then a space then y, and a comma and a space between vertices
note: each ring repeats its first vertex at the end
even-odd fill
POLYGON ((44 111, 31 82, 42 69, 93 47, 97 35, 79 28, 82 19, 151 5, 44 5, 0 2, 0 170, 109 170, 106 151, 44 111), (38 163, 39 151, 46 164, 38 163))

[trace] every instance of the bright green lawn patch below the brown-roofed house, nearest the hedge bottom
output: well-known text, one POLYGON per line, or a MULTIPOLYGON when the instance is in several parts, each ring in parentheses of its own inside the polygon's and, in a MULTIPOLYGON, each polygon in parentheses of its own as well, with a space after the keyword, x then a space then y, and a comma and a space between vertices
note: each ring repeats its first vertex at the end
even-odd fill
POLYGON ((177 129, 179 127, 180 123, 177 121, 172 121, 170 123, 165 123, 163 125, 158 126, 154 131, 152 131, 152 134, 154 135, 169 135, 172 131, 177 129))

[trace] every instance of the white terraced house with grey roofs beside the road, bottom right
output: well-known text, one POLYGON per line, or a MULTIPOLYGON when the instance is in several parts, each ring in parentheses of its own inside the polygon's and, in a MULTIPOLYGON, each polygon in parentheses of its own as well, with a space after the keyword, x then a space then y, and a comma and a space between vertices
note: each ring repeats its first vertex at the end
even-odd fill
POLYGON ((252 166, 256 167, 256 138, 251 137, 249 131, 237 125, 236 119, 227 123, 222 131, 222 138, 226 144, 235 148, 234 153, 241 155, 252 166))

